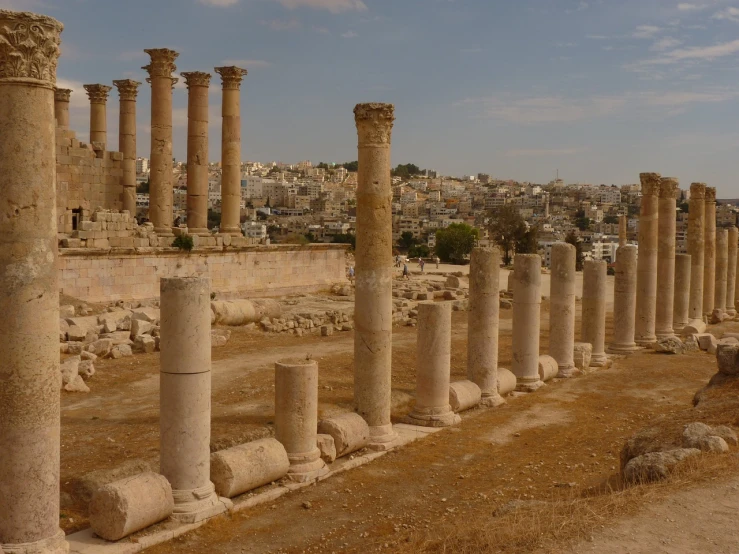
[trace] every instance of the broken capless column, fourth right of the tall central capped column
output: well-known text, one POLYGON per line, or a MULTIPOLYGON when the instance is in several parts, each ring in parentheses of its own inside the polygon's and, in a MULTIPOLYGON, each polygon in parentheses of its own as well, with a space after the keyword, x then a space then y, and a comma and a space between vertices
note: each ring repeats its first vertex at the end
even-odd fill
POLYGON ((559 377, 579 373, 575 368, 575 256, 571 244, 552 245, 549 355, 557 360, 559 377))

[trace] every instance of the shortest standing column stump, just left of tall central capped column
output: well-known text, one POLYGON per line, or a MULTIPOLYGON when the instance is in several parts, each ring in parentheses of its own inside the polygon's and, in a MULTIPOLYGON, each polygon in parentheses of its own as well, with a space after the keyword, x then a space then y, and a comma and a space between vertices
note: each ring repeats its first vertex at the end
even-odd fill
POLYGON ((316 443, 318 364, 283 360, 275 364, 275 438, 290 460, 288 477, 306 482, 328 473, 316 443))

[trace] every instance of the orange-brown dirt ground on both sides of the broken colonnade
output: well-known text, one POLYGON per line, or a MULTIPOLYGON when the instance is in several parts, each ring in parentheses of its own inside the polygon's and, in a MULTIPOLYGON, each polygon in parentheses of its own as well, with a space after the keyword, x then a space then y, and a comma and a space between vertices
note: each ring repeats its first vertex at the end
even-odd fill
MULTIPOLYGON (((510 316, 501 311, 502 367, 511 364, 510 316)), ((453 379, 465 378, 466 317, 453 314, 453 379)), ((542 318, 546 352, 546 304, 542 318)), ((610 318, 608 325, 610 336, 610 318)), ((721 328, 739 331, 739 324, 721 328)), ((286 337, 232 330, 229 343, 213 351, 213 449, 272 434, 273 364, 283 357, 310 354, 318 360, 320 415, 352 409, 353 333, 286 337)), ((99 361, 91 393, 63 396, 63 496, 71 495, 75 478, 126 459, 158 468, 158 364, 158 353, 99 361)), ((394 419, 412 406, 415 364, 415 328, 396 328, 394 419)), ((630 545, 608 550, 613 536, 607 531, 627 525, 636 532, 636 524, 618 518, 643 523, 658 503, 680 502, 673 496, 689 494, 682 489, 692 482, 706 481, 723 494, 723 481, 710 481, 717 472, 727 486, 739 486, 739 459, 733 453, 702 456, 685 482, 622 491, 619 452, 635 431, 661 416, 689 418, 693 394, 715 372, 715 358, 705 353, 619 359, 609 369, 554 380, 498 409, 469 412, 458 427, 272 505, 218 517, 147 552, 659 552, 630 545), (303 507, 306 501, 310 509, 303 507), (596 544, 604 546, 593 550, 596 544)), ((737 416, 728 422, 736 425, 737 416)), ((83 511, 67 500, 65 530, 86 527, 83 511)))

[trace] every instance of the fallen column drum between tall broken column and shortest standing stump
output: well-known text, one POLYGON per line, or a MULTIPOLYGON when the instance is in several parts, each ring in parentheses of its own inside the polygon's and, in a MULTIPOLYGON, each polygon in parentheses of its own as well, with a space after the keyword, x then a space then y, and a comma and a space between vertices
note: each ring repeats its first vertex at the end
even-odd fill
POLYGON ((210 456, 210 480, 218 496, 226 498, 277 481, 288 469, 285 447, 273 438, 240 444, 210 456))

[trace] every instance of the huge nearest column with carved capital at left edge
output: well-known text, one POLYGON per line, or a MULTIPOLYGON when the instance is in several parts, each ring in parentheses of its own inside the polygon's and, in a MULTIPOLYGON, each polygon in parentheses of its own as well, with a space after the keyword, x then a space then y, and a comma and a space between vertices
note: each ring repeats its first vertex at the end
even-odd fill
POLYGON ((62 24, 0 10, 0 550, 63 554, 54 84, 62 24))

